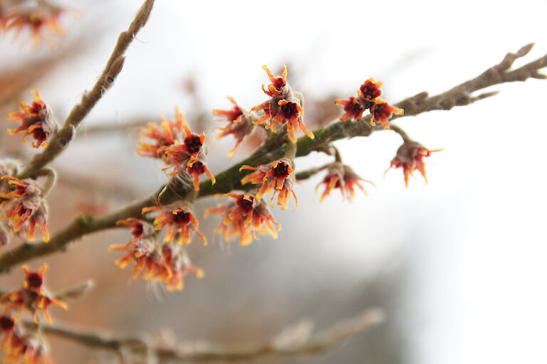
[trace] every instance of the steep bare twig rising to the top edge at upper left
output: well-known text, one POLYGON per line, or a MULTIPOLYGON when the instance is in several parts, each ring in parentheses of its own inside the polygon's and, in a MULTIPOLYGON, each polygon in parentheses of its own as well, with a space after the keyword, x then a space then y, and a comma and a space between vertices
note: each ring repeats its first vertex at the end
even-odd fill
POLYGON ((103 73, 99 76, 95 85, 90 90, 90 92, 84 92, 82 100, 76 105, 74 105, 68 117, 63 124, 61 129, 58 129, 51 141, 49 142, 46 149, 41 153, 36 154, 31 161, 24 166, 23 171, 19 173, 19 178, 27 178, 28 176, 33 176, 36 171, 40 170, 47 164, 49 164, 53 159, 56 158, 61 152, 66 148, 68 143, 74 137, 75 129, 78 128, 80 122, 84 117, 90 112, 95 104, 103 97, 106 90, 108 90, 114 84, 115 78, 118 76, 120 71, 123 68, 123 63, 125 60, 125 50, 130 45, 135 34, 140 31, 140 29, 145 26, 148 17, 150 16, 150 11, 152 11, 152 6, 154 5, 154 0, 145 0, 141 8, 135 15, 132 23, 130 24, 127 31, 120 33, 118 41, 114 47, 108 62, 105 65, 103 73))

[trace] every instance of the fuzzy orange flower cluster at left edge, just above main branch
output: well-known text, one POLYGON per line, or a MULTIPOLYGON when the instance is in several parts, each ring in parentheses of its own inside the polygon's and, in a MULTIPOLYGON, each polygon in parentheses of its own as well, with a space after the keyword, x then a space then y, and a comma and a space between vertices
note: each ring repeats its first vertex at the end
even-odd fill
MULTIPOLYGON (((0 210, 5 208, 2 220, 8 220, 8 225, 14 232, 26 232, 26 239, 34 241, 36 225, 42 232, 42 240, 49 241, 47 228, 48 208, 42 198, 42 191, 32 179, 20 180, 13 176, 2 176, 0 181, 0 210), (4 188, 2 188, 4 186, 4 188)), ((1 234, 1 232, 0 232, 1 234)))

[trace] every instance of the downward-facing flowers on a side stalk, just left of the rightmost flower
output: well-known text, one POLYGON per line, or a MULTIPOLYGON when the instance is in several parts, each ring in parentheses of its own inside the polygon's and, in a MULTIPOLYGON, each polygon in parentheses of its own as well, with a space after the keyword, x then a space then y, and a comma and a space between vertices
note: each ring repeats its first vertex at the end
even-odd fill
POLYGON ((340 162, 335 162, 332 166, 330 166, 330 168, 328 168, 327 175, 323 178, 323 181, 317 185, 316 189, 322 185, 325 186, 325 190, 321 194, 321 202, 323 202, 326 196, 330 195, 330 191, 334 188, 338 188, 340 190, 343 198, 345 198, 346 193, 348 193, 350 196, 348 199, 352 200, 355 196, 355 187, 360 188, 363 193, 366 193, 365 188, 360 181, 368 182, 374 186, 373 182, 367 181, 358 176, 358 174, 355 173, 350 166, 345 166, 340 162))

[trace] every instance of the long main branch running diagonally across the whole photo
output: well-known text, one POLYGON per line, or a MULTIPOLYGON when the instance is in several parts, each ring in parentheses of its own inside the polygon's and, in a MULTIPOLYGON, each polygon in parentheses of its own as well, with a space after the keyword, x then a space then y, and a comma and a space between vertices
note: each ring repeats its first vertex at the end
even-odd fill
MULTIPOLYGON (((531 45, 526 45, 516 54, 509 53, 499 65, 489 68, 478 77, 453 87, 447 92, 432 97, 429 97, 427 92, 422 92, 402 100, 396 105, 397 107, 405 108, 404 116, 417 115, 431 110, 451 109, 454 106, 469 105, 469 103, 474 100, 479 100, 480 97, 472 97, 470 94, 481 88, 503 82, 523 81, 528 77, 543 78, 543 75, 538 73, 538 70, 547 66, 547 55, 523 65, 521 68, 508 71, 514 60, 526 55, 530 48, 531 45)), ((491 93, 489 94, 491 95, 491 93)), ((330 124, 327 127, 315 130, 313 132, 313 134, 315 134, 315 139, 310 139, 308 137, 299 138, 296 156, 307 156, 312 151, 325 149, 328 144, 338 139, 368 137, 374 130, 370 127, 370 124, 368 124, 368 118, 369 117, 365 117, 359 122, 333 122, 333 124, 330 124)), ((264 144, 254 152, 254 154, 249 156, 249 158, 240 161, 222 173, 217 174, 217 176, 215 176, 217 183, 214 185, 212 185, 209 180, 203 181, 199 186, 198 197, 251 188, 252 185, 250 184, 246 186, 241 185, 240 178, 244 176, 244 173, 239 172, 239 167, 244 164, 249 166, 267 164, 283 157, 286 151, 286 144, 283 144, 283 137, 284 134, 281 133, 272 134, 266 139, 264 144)), ((155 193, 148 198, 132 203, 131 205, 110 214, 99 216, 82 215, 79 218, 76 218, 66 228, 63 228, 63 230, 60 230, 53 235, 48 243, 24 243, 19 247, 4 252, 0 255, 0 272, 6 272, 11 267, 14 267, 14 265, 25 262, 28 259, 42 257, 43 255, 48 255, 59 250, 65 250, 71 241, 78 239, 85 234, 114 228, 118 220, 139 217, 141 215, 140 210, 143 207, 156 203, 166 205, 184 198, 187 194, 187 191, 182 190, 181 187, 177 186, 175 183, 162 186, 160 191, 162 191, 161 194, 155 193)))

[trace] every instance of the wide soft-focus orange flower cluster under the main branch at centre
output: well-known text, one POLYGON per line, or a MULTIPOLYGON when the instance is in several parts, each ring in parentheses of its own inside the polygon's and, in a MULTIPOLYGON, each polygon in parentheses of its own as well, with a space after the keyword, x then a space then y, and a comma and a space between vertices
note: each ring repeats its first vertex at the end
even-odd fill
POLYGON ((273 218, 264 200, 255 198, 251 193, 226 193, 226 196, 235 201, 205 210, 206 217, 209 214, 222 217, 222 223, 214 230, 215 233, 223 235, 228 242, 239 238, 239 245, 249 245, 264 234, 277 239, 281 224, 273 218))

